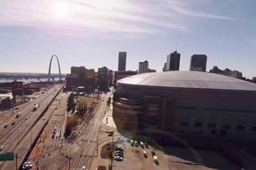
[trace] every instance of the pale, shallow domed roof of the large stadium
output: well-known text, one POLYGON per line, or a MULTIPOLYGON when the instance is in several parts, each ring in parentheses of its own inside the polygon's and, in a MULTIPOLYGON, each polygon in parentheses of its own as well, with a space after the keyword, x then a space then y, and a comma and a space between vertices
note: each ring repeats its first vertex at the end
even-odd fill
POLYGON ((196 71, 136 74, 135 76, 120 79, 117 83, 142 86, 230 89, 256 92, 256 84, 254 83, 219 74, 196 71))

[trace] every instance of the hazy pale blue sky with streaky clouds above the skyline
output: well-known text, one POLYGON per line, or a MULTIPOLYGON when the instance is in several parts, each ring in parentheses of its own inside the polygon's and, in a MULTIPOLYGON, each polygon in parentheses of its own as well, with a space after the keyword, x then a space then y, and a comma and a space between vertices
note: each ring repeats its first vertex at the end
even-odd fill
MULTIPOLYGON (((166 56, 193 54, 256 77, 255 0, 8 0, 0 1, 0 72, 47 73, 51 57, 61 72, 72 66, 117 70, 147 60, 161 72, 166 56), (178 46, 176 46, 178 44, 178 46)), ((52 59, 52 73, 58 72, 52 59)))

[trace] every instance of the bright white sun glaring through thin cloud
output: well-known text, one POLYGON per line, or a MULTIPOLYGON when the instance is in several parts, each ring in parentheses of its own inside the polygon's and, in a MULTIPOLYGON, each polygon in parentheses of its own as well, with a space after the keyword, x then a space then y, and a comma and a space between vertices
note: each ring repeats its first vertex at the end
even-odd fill
POLYGON ((70 8, 67 1, 57 0, 52 2, 51 11, 53 17, 58 21, 65 21, 70 13, 70 8))

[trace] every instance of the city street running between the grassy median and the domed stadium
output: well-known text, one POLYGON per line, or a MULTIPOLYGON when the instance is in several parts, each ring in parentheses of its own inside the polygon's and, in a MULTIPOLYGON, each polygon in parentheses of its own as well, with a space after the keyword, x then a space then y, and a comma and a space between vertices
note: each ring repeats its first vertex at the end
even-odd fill
MULTIPOLYGON (((90 156, 95 155, 93 153, 97 147, 97 140, 99 140, 97 139, 97 136, 101 126, 102 116, 104 115, 104 111, 106 110, 107 98, 110 95, 111 93, 107 93, 106 96, 103 96, 99 102, 99 106, 96 107, 93 119, 89 122, 88 127, 86 127, 85 131, 83 132, 83 135, 86 136, 86 138, 84 139, 85 141, 81 143, 81 146, 78 149, 76 155, 72 156, 71 169, 81 169, 82 166, 86 166, 87 169, 88 167, 90 167, 91 161, 93 159, 90 158, 90 156)), ((98 143, 99 142, 100 141, 98 141, 98 143)))

